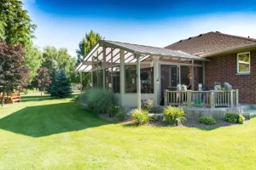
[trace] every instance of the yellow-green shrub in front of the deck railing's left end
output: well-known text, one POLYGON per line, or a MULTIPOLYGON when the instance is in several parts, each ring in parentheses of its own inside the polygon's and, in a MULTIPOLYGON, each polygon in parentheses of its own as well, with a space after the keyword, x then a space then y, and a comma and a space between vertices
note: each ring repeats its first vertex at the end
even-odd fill
POLYGON ((180 123, 186 121, 183 109, 180 107, 167 106, 164 109, 163 122, 174 124, 176 120, 180 123))

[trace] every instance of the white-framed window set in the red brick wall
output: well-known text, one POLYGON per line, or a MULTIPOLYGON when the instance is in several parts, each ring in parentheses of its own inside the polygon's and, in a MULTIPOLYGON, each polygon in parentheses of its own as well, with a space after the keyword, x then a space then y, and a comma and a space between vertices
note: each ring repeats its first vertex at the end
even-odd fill
POLYGON ((237 73, 250 73, 250 53, 237 54, 237 73))

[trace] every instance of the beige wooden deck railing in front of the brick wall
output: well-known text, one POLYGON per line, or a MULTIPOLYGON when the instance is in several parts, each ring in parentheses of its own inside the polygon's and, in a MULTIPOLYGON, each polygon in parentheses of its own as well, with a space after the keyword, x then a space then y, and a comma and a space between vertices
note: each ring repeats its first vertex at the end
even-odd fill
POLYGON ((239 104, 239 91, 169 91, 165 90, 165 105, 188 107, 232 107, 239 104))

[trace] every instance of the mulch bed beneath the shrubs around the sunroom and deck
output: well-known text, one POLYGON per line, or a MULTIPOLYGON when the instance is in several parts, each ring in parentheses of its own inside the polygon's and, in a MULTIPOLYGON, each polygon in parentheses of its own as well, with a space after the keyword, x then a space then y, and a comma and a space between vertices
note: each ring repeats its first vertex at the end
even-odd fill
MULTIPOLYGON (((100 114, 99 116, 102 119, 110 121, 110 122, 122 122, 125 125, 131 125, 131 126, 134 125, 132 120, 131 120, 131 116, 126 116, 124 121, 119 121, 118 117, 116 117, 116 116, 109 117, 108 114, 100 114)), ((244 123, 247 123, 247 122, 248 121, 245 121, 244 123)), ((228 126, 236 126, 236 125, 240 125, 240 124, 233 124, 233 123, 230 123, 230 122, 225 122, 223 120, 216 120, 215 125, 206 125, 206 124, 198 122, 197 120, 188 119, 183 125, 180 125, 178 127, 217 128, 217 127, 228 127, 228 126)), ((169 124, 166 124, 165 122, 161 122, 161 121, 149 122, 145 126, 176 127, 175 125, 169 125, 169 124)))

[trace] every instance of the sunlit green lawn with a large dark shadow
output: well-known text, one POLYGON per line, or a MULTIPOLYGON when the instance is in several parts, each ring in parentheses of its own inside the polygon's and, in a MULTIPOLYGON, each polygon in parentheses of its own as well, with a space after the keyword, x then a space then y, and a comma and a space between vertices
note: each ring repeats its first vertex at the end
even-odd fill
POLYGON ((127 127, 73 98, 44 99, 0 108, 0 169, 256 169, 256 118, 215 129, 127 127))

